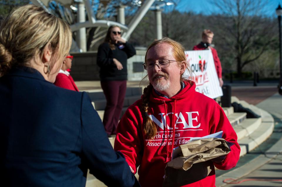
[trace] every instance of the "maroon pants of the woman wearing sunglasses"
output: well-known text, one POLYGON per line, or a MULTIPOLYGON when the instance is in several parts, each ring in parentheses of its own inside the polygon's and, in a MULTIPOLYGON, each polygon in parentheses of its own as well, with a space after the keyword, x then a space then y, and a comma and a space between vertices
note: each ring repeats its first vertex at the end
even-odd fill
POLYGON ((126 80, 102 81, 101 87, 107 99, 103 124, 108 135, 115 134, 123 107, 126 80))

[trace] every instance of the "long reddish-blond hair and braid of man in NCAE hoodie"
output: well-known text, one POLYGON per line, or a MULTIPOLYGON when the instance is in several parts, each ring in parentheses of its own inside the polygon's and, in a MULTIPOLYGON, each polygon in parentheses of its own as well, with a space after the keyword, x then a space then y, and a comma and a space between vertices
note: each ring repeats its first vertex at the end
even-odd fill
MULTIPOLYGON (((181 66, 182 62, 185 61, 187 63, 186 66, 186 70, 188 75, 187 76, 183 76, 183 74, 180 76, 180 80, 179 81, 183 81, 186 80, 189 83, 190 79, 192 77, 192 71, 190 69, 190 66, 186 60, 186 56, 185 56, 185 48, 183 47, 182 44, 180 44, 179 42, 176 42, 170 38, 167 37, 163 37, 160 40, 157 40, 155 42, 153 42, 147 49, 146 54, 145 54, 145 62, 147 59, 147 52, 149 51, 149 49, 151 49, 153 46, 158 45, 158 44, 169 44, 172 49, 173 49, 173 56, 175 58, 175 60, 178 61, 178 65, 179 67, 181 66)), ((144 79, 147 77, 148 75, 146 75, 142 80, 144 81, 144 79)), ((141 84, 141 83, 140 83, 141 84)), ((146 88, 144 88, 143 90, 143 97, 142 97, 142 116, 144 119, 144 133, 147 136, 147 138, 152 139, 154 138, 154 136, 157 134, 157 127, 156 125, 154 125, 153 121, 150 119, 150 117, 147 114, 148 108, 149 108, 149 97, 150 97, 150 93, 153 89, 152 84, 150 83, 146 88)))

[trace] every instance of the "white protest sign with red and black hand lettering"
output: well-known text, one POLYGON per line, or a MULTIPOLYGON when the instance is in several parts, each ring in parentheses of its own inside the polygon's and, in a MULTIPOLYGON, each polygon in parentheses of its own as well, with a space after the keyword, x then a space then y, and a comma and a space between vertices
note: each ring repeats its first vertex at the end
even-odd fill
MULTIPOLYGON (((212 99, 222 96, 212 51, 185 51, 185 55, 192 71, 192 80, 196 83, 196 91, 212 99)), ((188 76, 187 71, 184 76, 188 76)))

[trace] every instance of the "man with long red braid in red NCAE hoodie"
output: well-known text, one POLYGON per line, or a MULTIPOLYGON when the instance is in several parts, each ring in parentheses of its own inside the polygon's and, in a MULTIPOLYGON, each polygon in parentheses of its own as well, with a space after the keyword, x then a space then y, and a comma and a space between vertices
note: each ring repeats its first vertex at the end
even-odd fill
MULTIPOLYGON (((237 135, 219 104, 196 92, 195 83, 182 77, 189 69, 184 47, 169 38, 155 41, 147 49, 143 66, 150 84, 122 116, 114 145, 133 173, 139 166, 141 186, 162 186, 174 147, 188 143, 191 137, 219 131, 234 145, 226 157, 213 160, 214 166, 235 167, 240 155, 237 135)), ((215 186, 214 168, 206 178, 186 186, 215 186)))

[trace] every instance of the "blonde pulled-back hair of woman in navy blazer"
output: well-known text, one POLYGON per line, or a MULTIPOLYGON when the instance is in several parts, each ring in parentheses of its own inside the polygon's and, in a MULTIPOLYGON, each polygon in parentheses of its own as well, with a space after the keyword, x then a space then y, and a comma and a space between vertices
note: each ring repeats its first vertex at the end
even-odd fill
POLYGON ((30 4, 14 9, 0 27, 0 77, 16 66, 32 66, 29 61, 38 54, 42 58, 50 46, 51 70, 69 52, 71 41, 69 25, 43 8, 30 4))

